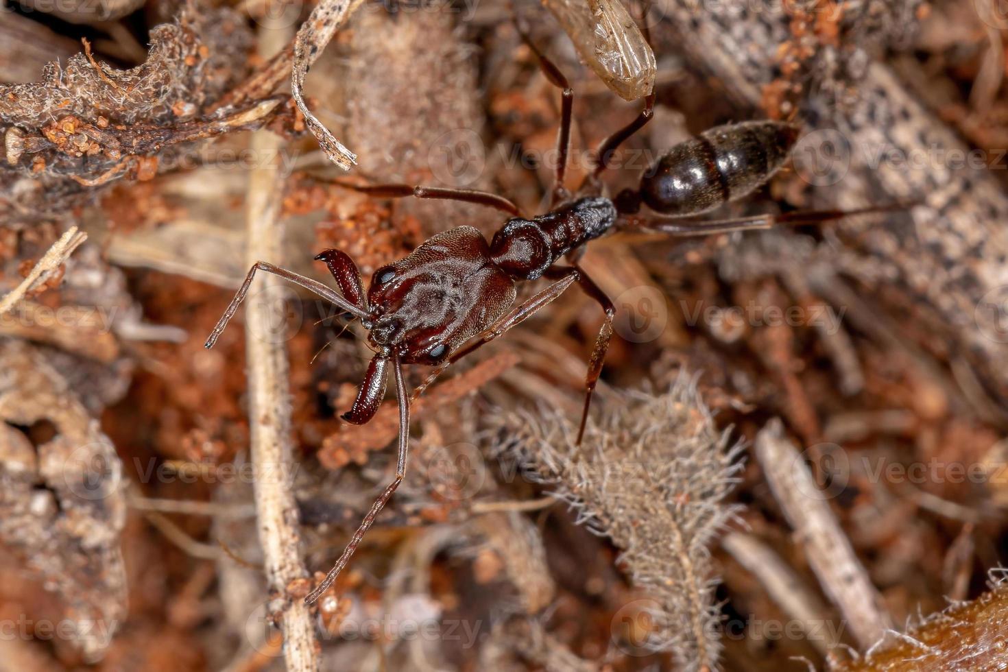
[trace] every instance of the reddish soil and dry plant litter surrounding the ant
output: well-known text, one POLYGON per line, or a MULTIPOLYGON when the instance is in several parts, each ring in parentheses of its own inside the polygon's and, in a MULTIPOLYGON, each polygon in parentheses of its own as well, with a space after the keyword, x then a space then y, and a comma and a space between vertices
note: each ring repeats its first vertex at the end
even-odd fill
POLYGON ((0 669, 1003 669, 1006 29, 993 0, 6 0, 0 669), (295 287, 204 341, 260 257, 370 278, 502 224, 334 177, 543 210, 560 95, 514 14, 575 92, 569 186, 653 94, 609 194, 773 118, 792 160, 716 217, 901 207, 593 242, 584 443, 572 291, 417 398, 405 481, 302 608, 394 402, 340 419, 364 330, 295 287))

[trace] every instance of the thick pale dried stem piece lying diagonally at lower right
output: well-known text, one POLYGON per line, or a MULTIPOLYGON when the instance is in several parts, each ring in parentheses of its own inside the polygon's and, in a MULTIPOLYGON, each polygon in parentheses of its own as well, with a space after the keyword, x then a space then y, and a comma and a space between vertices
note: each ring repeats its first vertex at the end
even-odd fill
POLYGON ((829 494, 818 489, 801 454, 784 437, 780 420, 771 420, 756 435, 756 458, 823 588, 855 639, 871 646, 892 629, 892 620, 830 509, 829 494))

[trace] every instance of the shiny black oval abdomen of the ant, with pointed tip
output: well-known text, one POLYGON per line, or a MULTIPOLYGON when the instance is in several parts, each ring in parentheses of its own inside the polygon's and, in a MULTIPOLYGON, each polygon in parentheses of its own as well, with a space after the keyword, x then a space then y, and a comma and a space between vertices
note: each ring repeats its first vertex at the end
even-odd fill
POLYGON ((640 198, 664 215, 700 215, 764 184, 787 160, 797 128, 776 121, 727 124, 672 147, 645 174, 640 198))

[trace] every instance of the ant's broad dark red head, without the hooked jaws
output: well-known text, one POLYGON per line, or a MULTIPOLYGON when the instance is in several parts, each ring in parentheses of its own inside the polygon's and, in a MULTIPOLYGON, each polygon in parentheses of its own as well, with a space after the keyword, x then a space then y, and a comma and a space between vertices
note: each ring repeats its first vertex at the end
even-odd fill
POLYGON ((472 227, 438 234, 375 271, 368 340, 403 364, 442 364, 514 301, 511 279, 472 227))

